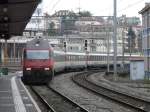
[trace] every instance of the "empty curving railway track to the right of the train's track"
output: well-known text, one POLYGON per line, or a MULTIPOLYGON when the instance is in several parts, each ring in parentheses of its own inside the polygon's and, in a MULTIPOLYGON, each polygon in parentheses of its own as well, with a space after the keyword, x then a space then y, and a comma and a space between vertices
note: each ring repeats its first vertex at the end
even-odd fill
POLYGON ((96 85, 87 79, 87 77, 92 73, 95 72, 80 73, 74 75, 72 79, 78 85, 90 91, 93 91, 94 93, 114 100, 118 103, 134 108, 138 112, 150 112, 149 101, 145 101, 141 98, 137 98, 135 96, 122 93, 120 91, 112 90, 110 88, 105 87, 104 85, 96 85))

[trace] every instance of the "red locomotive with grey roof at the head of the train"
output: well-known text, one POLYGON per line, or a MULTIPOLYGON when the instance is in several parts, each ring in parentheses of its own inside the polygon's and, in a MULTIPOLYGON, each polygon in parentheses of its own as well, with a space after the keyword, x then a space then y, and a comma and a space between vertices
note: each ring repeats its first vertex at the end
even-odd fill
POLYGON ((53 78, 53 50, 46 39, 28 41, 23 51, 23 81, 48 83, 53 78))

